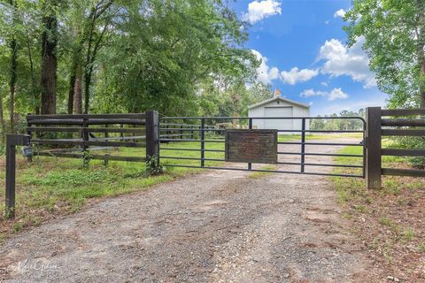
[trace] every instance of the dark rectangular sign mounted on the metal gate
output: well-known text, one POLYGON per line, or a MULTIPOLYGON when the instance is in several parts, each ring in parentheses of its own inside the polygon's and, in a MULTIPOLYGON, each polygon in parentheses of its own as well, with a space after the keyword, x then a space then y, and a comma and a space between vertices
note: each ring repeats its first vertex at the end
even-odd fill
POLYGON ((226 161, 277 164, 277 130, 226 130, 226 161))

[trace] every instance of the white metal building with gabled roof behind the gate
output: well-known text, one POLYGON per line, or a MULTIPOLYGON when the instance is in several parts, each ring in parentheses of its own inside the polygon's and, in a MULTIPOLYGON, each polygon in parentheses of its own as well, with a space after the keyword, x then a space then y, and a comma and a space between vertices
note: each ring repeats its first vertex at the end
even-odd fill
MULTIPOLYGON (((308 117, 310 106, 290 99, 275 96, 248 107, 248 117, 308 117)), ((310 129, 306 120, 305 129, 310 129)), ((257 129, 301 130, 301 119, 253 119, 252 127, 257 129)))

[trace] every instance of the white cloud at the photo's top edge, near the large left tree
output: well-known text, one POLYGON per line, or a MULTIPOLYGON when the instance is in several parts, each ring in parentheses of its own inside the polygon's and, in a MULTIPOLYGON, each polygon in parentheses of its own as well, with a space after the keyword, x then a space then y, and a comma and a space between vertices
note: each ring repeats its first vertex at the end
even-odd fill
POLYGON ((252 1, 248 4, 248 12, 243 13, 242 19, 254 24, 261 19, 281 14, 281 3, 275 0, 252 1))

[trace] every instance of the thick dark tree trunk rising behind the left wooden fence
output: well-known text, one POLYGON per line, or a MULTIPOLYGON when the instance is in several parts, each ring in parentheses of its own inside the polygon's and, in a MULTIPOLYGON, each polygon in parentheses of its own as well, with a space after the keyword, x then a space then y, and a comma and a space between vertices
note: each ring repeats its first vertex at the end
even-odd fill
POLYGON ((42 114, 55 114, 58 21, 54 11, 47 12, 42 25, 42 114))

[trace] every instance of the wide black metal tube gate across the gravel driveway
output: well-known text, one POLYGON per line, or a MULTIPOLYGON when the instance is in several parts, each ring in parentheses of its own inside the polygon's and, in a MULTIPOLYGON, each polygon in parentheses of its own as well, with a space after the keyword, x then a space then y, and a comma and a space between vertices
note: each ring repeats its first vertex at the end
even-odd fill
POLYGON ((360 117, 166 117, 159 159, 169 167, 365 178, 365 129, 360 117), (280 128, 253 126, 261 120, 280 128), (315 120, 326 129, 312 130, 315 120))

